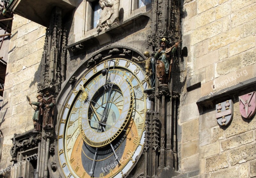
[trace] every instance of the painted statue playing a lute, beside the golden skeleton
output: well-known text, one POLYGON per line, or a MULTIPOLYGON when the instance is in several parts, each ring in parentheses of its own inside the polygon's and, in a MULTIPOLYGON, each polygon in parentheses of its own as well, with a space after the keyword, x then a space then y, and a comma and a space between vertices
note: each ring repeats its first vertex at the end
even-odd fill
POLYGON ((160 39, 160 48, 155 53, 156 58, 156 76, 162 83, 167 83, 171 75, 172 60, 170 60, 170 55, 172 55, 180 42, 175 43, 171 48, 169 47, 169 41, 165 37, 160 39), (169 76, 166 76, 168 75, 169 76))

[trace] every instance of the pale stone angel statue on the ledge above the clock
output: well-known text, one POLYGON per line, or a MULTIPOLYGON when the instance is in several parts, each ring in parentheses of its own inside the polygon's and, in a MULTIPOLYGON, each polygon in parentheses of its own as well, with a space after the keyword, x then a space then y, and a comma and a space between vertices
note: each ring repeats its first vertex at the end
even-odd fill
POLYGON ((106 30, 118 24, 120 0, 100 0, 100 21, 97 25, 97 32, 106 30))

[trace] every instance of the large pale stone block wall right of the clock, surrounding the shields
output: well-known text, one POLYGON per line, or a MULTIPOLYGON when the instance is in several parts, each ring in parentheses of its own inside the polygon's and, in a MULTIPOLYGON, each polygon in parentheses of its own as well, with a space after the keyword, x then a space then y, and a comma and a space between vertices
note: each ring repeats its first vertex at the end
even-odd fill
POLYGON ((255 175, 255 116, 251 122, 243 120, 238 101, 233 101, 234 119, 223 128, 217 124, 215 108, 199 113, 196 105, 200 97, 256 76, 255 8, 255 0, 184 1, 187 82, 178 121, 179 167, 184 177, 192 177, 185 173, 193 170, 201 174, 198 177, 255 175))

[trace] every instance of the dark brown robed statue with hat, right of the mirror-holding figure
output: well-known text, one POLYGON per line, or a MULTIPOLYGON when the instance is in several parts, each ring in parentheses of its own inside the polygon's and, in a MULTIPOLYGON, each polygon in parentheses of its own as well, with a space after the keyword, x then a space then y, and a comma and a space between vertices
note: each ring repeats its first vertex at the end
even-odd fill
POLYGON ((55 113, 55 91, 56 87, 54 85, 49 85, 44 89, 39 90, 39 92, 44 93, 42 100, 44 113, 43 113, 43 128, 54 128, 54 113, 55 113))

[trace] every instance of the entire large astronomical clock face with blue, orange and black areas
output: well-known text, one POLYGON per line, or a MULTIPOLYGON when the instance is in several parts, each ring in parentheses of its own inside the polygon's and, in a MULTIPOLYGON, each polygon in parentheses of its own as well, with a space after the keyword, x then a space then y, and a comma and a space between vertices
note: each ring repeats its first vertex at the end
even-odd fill
POLYGON ((130 60, 114 58, 88 70, 68 97, 58 130, 66 177, 122 177, 143 150, 145 74, 130 60), (108 74, 102 75, 103 69, 108 74))

